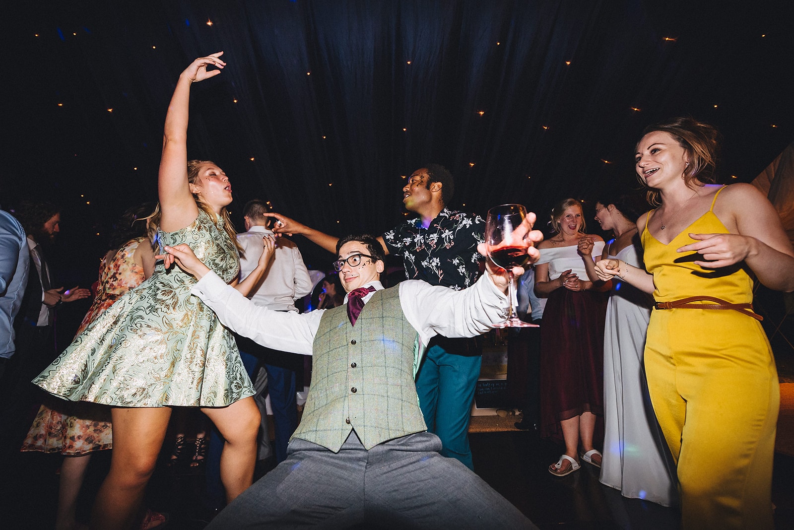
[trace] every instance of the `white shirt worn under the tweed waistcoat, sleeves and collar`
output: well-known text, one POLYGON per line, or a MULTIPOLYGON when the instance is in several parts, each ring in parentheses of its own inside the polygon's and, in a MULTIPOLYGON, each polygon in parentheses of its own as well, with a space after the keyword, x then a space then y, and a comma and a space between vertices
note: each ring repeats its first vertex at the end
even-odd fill
MULTIPOLYGON (((376 290, 384 288, 380 282, 367 285, 376 290)), ((311 355, 320 318, 327 310, 278 313, 266 309, 255 305, 233 286, 226 285, 214 272, 201 278, 191 293, 209 305, 223 325, 233 332, 266 348, 303 355, 311 355)), ((370 298, 372 293, 364 297, 364 303, 370 298)), ((507 318, 507 296, 496 288, 488 275, 459 291, 431 286, 421 280, 405 280, 399 283, 399 300, 407 321, 419 334, 422 347, 437 334, 449 337, 481 335, 507 318)))

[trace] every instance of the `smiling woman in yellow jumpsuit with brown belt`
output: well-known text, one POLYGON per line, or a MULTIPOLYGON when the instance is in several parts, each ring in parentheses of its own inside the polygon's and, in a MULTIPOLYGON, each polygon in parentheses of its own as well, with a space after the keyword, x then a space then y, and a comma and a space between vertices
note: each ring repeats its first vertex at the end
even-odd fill
POLYGON ((773 528, 780 387, 750 274, 794 290, 794 250, 754 186, 708 183, 716 138, 692 118, 646 129, 636 168, 660 205, 637 223, 647 272, 619 259, 596 269, 656 301, 646 374, 676 459, 684 528, 773 528))

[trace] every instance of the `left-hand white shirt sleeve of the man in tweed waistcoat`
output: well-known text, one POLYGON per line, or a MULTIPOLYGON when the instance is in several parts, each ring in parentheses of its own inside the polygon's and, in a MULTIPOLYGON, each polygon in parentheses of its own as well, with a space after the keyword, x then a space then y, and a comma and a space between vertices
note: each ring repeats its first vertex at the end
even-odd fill
POLYGON ((201 298, 222 324, 238 335, 274 350, 311 355, 322 309, 303 314, 272 311, 245 298, 214 272, 201 278, 191 294, 201 298))

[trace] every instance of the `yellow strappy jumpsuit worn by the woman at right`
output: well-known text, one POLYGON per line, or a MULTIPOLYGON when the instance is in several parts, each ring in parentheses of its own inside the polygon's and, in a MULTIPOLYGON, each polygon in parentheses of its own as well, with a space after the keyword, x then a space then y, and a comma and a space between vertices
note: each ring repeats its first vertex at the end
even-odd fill
MULTIPOLYGON (((689 233, 728 233, 713 212, 719 191, 711 209, 667 245, 646 222, 642 246, 656 301, 753 301, 742 263, 704 269, 692 263, 695 252, 676 252, 694 242, 689 233)), ((676 459, 684 529, 773 528, 780 386, 761 323, 734 309, 653 309, 645 364, 653 410, 676 459)))

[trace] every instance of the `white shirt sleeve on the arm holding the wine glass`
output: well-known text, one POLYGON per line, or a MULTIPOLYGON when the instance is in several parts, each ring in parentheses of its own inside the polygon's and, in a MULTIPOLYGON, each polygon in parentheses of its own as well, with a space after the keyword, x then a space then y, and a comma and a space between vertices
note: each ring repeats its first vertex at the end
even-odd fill
POLYGON ((481 335, 507 319, 507 295, 488 275, 464 290, 430 286, 419 280, 400 282, 399 290, 403 313, 425 345, 435 335, 481 335))

